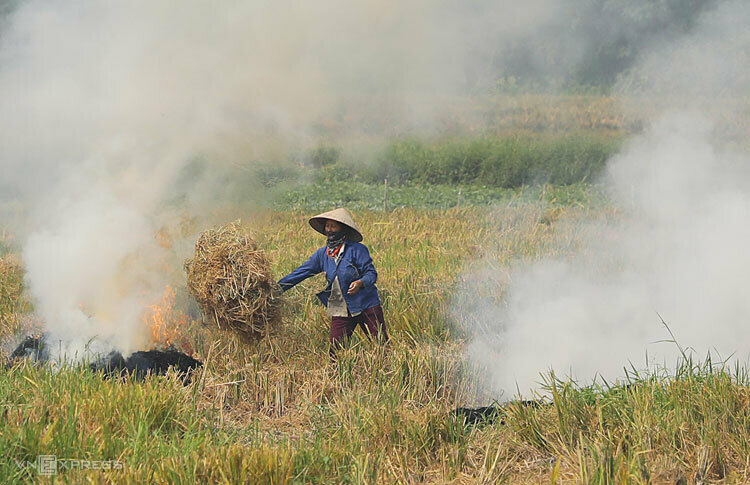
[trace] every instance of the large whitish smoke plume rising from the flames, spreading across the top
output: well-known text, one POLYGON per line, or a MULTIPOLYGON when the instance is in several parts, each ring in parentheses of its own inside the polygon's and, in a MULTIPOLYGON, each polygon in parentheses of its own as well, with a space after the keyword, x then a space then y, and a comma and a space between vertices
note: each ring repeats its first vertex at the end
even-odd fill
POLYGON ((556 4, 3 3, 0 199, 49 339, 136 349, 174 259, 157 231, 259 199, 236 175, 321 133, 430 129, 487 72, 489 34, 556 4))

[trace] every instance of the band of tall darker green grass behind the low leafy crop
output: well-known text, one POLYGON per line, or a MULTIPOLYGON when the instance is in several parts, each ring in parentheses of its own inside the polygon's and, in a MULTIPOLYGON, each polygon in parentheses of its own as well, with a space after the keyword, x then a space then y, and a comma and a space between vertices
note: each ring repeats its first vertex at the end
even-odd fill
POLYGON ((594 133, 399 138, 344 154, 335 146, 320 146, 302 158, 302 167, 264 165, 253 177, 269 187, 300 179, 492 188, 571 185, 595 181, 621 141, 619 135, 594 133))

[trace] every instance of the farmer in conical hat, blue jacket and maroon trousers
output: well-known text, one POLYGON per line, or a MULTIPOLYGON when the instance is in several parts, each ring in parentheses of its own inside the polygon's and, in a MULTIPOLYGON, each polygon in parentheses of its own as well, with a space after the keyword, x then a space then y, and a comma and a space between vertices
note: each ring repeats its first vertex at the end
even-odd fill
POLYGON ((346 209, 335 209, 310 219, 313 229, 326 236, 326 245, 315 251, 307 262, 279 281, 286 291, 297 283, 325 272, 328 286, 318 298, 331 317, 331 356, 351 337, 357 325, 365 334, 388 340, 383 308, 375 281, 378 273, 372 264, 362 233, 346 209))

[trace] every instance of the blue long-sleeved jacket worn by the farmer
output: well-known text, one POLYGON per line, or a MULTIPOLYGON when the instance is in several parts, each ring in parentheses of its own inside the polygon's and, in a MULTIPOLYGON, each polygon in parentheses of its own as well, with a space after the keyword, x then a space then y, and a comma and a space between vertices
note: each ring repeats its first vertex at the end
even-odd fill
POLYGON ((337 275, 339 277, 341 293, 344 295, 344 301, 346 301, 349 313, 359 313, 362 310, 380 305, 380 296, 378 296, 378 289, 375 286, 378 273, 372 264, 370 251, 367 250, 367 246, 357 242, 346 242, 338 265, 335 259, 326 254, 325 246, 318 249, 299 268, 284 276, 279 281, 279 285, 286 291, 310 276, 315 276, 324 271, 326 273, 326 280, 328 280, 328 286, 326 286, 325 290, 318 293, 318 299, 320 299, 320 302, 324 306, 328 306, 328 297, 331 296, 333 279, 337 275), (356 280, 362 280, 364 286, 353 295, 347 294, 349 285, 352 281, 356 280))

